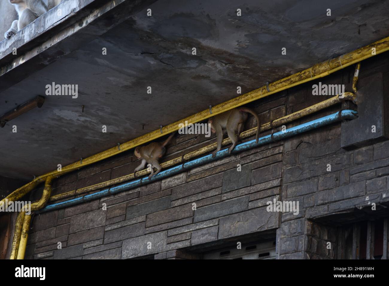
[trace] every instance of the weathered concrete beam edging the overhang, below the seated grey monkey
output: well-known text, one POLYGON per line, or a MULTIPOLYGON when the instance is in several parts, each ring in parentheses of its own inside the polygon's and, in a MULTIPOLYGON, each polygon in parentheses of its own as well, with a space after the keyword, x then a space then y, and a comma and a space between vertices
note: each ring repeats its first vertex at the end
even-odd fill
POLYGON ((77 50, 155 1, 66 0, 60 3, 10 40, 0 42, 0 91, 77 50), (12 53, 14 48, 16 55, 12 53))

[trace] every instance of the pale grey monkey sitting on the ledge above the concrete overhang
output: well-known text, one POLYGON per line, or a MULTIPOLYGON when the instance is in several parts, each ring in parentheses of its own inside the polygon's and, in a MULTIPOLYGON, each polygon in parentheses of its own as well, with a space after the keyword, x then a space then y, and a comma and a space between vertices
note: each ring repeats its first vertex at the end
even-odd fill
POLYGON ((5 32, 4 37, 6 39, 11 38, 17 31, 20 31, 48 11, 42 0, 9 0, 9 2, 14 5, 19 19, 13 21, 11 28, 5 32))

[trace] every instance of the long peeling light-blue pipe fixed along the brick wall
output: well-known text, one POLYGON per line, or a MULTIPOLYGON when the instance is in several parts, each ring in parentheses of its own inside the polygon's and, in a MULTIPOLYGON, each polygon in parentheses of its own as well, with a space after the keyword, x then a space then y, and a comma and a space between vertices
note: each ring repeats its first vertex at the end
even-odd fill
MULTIPOLYGON (((310 130, 313 130, 313 129, 316 129, 316 128, 319 128, 322 126, 326 126, 328 124, 335 123, 335 122, 338 122, 341 120, 346 120, 346 119, 352 120, 352 119, 355 119, 357 117, 357 115, 358 115, 358 113, 354 110, 341 110, 341 111, 333 113, 331 115, 327 115, 327 116, 321 117, 319 119, 315 119, 315 120, 300 124, 298 126, 291 127, 289 129, 286 129, 285 131, 279 131, 279 132, 273 133, 273 135, 270 134, 270 135, 263 136, 263 137, 259 138, 258 143, 256 143, 256 141, 254 139, 251 141, 247 141, 247 142, 238 144, 237 146, 235 146, 234 150, 232 150, 232 153, 243 152, 245 150, 249 150, 249 149, 252 149, 254 147, 265 145, 265 144, 268 144, 268 143, 271 143, 274 141, 279 141, 279 140, 282 140, 284 138, 288 138, 288 137, 291 137, 291 136, 294 136, 297 134, 301 134, 301 133, 304 133, 304 132, 307 132, 307 131, 310 131, 310 130)), ((170 169, 166 169, 164 171, 161 171, 158 174, 156 174, 155 176, 152 176, 151 179, 149 179, 147 176, 147 177, 144 177, 141 179, 137 179, 134 181, 130 181, 128 183, 118 185, 116 187, 107 188, 105 190, 102 190, 102 191, 99 191, 99 192, 96 192, 96 193, 93 193, 90 195, 84 195, 82 197, 78 197, 75 199, 70 199, 70 200, 58 202, 55 204, 49 204, 45 208, 37 211, 37 213, 44 213, 47 211, 53 211, 55 209, 67 208, 69 206, 74 206, 77 204, 81 204, 83 202, 89 202, 89 201, 93 201, 96 199, 100 199, 102 197, 106 197, 108 195, 124 192, 126 190, 130 190, 130 189, 142 186, 142 185, 146 185, 146 184, 152 183, 154 181, 158 181, 158 180, 161 180, 163 178, 181 173, 183 171, 193 169, 195 167, 201 166, 203 164, 212 162, 212 161, 217 160, 217 159, 221 159, 221 158, 226 157, 228 155, 229 155, 228 148, 226 148, 226 149, 223 149, 223 150, 220 150, 219 152, 217 152, 215 158, 212 158, 212 154, 205 155, 205 156, 200 157, 198 159, 194 159, 194 160, 191 160, 191 161, 186 162, 184 164, 180 164, 180 165, 172 167, 170 169)))

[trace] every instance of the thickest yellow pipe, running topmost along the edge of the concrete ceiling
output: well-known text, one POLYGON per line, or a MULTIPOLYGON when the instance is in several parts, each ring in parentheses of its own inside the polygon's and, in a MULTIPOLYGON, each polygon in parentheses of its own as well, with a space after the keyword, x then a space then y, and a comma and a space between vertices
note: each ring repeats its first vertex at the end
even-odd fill
POLYGON ((27 183, 23 187, 20 187, 14 192, 12 192, 10 195, 7 196, 7 199, 9 199, 9 201, 18 200, 19 198, 23 197, 23 195, 33 190, 39 183, 46 180, 47 177, 50 178, 59 177, 75 169, 80 169, 81 167, 87 166, 89 164, 93 164, 95 162, 106 159, 113 155, 117 155, 121 152, 135 148, 136 146, 155 140, 168 133, 177 131, 179 129, 179 124, 180 123, 185 124, 185 121, 187 121, 188 123, 196 123, 208 119, 209 117, 212 117, 219 113, 223 113, 232 108, 245 105, 246 103, 249 103, 251 101, 264 98, 266 96, 269 96, 270 94, 283 91, 290 87, 294 87, 296 85, 303 84, 305 82, 315 80, 317 78, 325 77, 326 75, 337 72, 342 68, 363 61, 364 59, 371 58, 375 54, 381 54, 382 52, 388 50, 389 50, 389 37, 386 37, 370 45, 356 49, 355 51, 349 52, 347 54, 343 54, 340 57, 329 59, 328 61, 324 61, 322 63, 318 63, 312 66, 311 68, 290 75, 289 77, 285 77, 275 82, 272 82, 267 86, 264 85, 258 89, 255 89, 254 91, 248 92, 246 94, 242 94, 241 96, 225 101, 224 103, 221 103, 219 105, 213 106, 212 114, 209 112, 208 109, 203 110, 202 112, 198 112, 194 115, 186 117, 185 119, 179 120, 177 122, 174 122, 172 124, 163 127, 162 128, 163 133, 161 133, 159 129, 154 130, 150 133, 147 133, 138 138, 123 143, 122 145, 120 145, 120 150, 115 146, 103 152, 92 155, 91 157, 85 158, 84 160, 82 160, 82 163, 75 162, 73 164, 67 165, 62 168, 61 172, 52 171, 50 173, 39 176, 35 178, 35 180, 31 181, 30 183, 27 183), (373 52, 373 49, 375 50, 375 52, 373 52))

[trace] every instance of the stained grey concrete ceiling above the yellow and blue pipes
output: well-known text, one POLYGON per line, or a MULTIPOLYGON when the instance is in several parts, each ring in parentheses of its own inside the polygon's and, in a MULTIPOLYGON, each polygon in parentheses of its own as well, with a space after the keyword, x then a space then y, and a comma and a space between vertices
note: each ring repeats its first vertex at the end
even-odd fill
POLYGON ((79 92, 45 96, 42 108, 0 129, 0 175, 32 179, 234 98, 238 85, 248 92, 387 37, 389 28, 383 0, 159 0, 150 8, 152 17, 142 11, 0 92, 0 115, 45 95, 51 82, 79 92))

